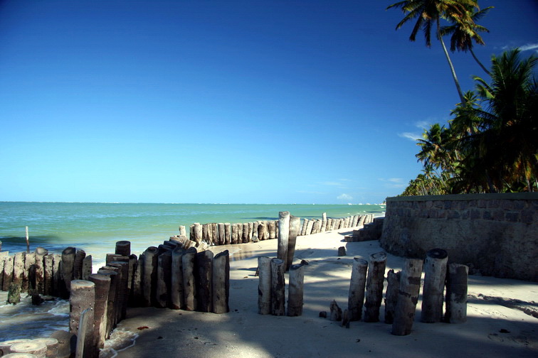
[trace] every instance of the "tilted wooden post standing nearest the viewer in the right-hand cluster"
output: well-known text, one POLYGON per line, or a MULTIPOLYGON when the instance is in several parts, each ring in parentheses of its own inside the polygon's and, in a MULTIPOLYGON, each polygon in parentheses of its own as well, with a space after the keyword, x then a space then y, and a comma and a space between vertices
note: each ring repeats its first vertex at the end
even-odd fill
POLYGON ((392 323, 393 335, 409 335, 415 320, 418 292, 421 289, 422 259, 406 259, 401 271, 398 303, 392 323))

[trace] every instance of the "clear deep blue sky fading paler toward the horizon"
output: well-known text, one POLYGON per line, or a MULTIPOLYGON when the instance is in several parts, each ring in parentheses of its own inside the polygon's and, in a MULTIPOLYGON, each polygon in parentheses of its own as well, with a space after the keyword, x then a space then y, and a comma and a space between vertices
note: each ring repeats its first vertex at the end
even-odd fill
MULTIPOLYGON (((392 2, 2 1, 0 200, 398 195, 413 138, 459 101, 441 45, 395 31, 392 2)), ((537 1, 480 5, 483 63, 537 53, 537 1)), ((463 89, 485 76, 452 58, 463 89)))

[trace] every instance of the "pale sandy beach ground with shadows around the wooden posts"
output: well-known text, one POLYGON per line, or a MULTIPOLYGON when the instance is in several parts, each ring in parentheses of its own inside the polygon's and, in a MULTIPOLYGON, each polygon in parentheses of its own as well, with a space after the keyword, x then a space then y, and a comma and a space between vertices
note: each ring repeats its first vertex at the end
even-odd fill
MULTIPOLYGON (((229 313, 132 308, 118 332, 136 332, 138 337, 117 356, 538 357, 538 318, 532 316, 538 311, 538 284, 526 281, 470 276, 468 322, 419 322, 419 301, 413 332, 404 337, 391 335, 391 325, 383 322, 384 305, 380 322, 351 322, 349 329, 320 318, 332 300, 347 308, 353 257, 382 251, 379 242, 344 242, 349 233, 340 229, 297 239, 295 261, 310 262, 302 316, 258 314, 257 258, 275 257, 277 241, 234 245, 229 248, 241 251, 231 261, 229 313), (339 246, 346 247, 347 256, 337 256, 339 246)), ((386 269, 400 270, 402 263, 389 255, 386 269)))

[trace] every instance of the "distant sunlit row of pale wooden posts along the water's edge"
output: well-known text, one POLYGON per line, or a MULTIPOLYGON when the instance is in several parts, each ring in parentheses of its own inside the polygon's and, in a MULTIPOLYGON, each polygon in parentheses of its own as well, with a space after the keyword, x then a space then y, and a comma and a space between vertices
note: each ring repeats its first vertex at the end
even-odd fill
MULTIPOLYGON (((347 227, 358 227, 369 224, 374 215, 352 215, 338 219, 327 218, 324 212, 322 219, 303 219, 297 235, 305 236, 347 227)), ((185 236, 184 226, 179 227, 179 235, 185 236)), ((278 220, 243 222, 230 224, 195 222, 189 227, 189 239, 197 244, 204 242, 209 245, 246 244, 260 240, 276 239, 279 235, 278 220)))

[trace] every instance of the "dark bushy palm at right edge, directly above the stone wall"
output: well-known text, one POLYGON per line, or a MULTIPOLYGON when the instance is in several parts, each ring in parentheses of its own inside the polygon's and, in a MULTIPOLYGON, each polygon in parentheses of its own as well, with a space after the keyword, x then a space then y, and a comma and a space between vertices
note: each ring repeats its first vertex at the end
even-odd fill
POLYGON ((478 109, 483 131, 472 141, 492 172, 496 186, 512 190, 524 183, 532 191, 538 178, 538 58, 518 49, 492 56, 491 82, 474 77, 485 104, 478 109), (494 175, 495 173, 495 175, 494 175))

